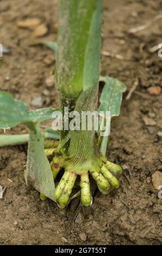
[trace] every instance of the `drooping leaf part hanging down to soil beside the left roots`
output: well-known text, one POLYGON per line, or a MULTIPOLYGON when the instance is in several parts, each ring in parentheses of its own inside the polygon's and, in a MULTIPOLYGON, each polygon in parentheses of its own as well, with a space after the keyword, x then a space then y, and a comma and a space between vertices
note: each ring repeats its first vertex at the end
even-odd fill
POLYGON ((32 185, 46 197, 54 199, 54 181, 49 161, 44 152, 44 138, 39 129, 30 132, 27 170, 24 172, 27 185, 32 185))

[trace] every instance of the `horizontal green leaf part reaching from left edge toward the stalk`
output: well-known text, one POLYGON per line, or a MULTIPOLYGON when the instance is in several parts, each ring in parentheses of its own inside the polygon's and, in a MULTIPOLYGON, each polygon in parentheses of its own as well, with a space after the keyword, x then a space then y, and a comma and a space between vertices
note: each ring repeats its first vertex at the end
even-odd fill
POLYGON ((37 123, 52 119, 52 113, 59 108, 42 108, 28 111, 26 103, 15 100, 7 92, 0 92, 0 129, 10 129, 21 123, 37 123))

